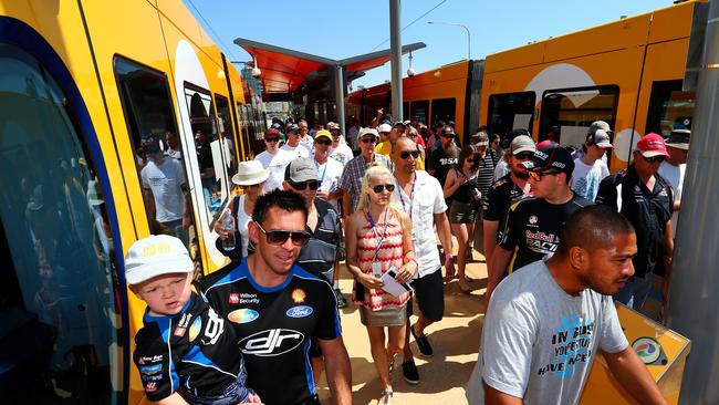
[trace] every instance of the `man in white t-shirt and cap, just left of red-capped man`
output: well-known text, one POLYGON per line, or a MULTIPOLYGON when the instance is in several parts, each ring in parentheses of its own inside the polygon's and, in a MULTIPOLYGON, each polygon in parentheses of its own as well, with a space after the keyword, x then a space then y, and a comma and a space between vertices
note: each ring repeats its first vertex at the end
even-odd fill
POLYGON ((570 180, 570 188, 579 196, 590 201, 596 199, 600 183, 609 175, 609 169, 602 158, 614 146, 609 143, 609 134, 604 129, 596 129, 586 135, 584 154, 574 159, 574 172, 570 180))

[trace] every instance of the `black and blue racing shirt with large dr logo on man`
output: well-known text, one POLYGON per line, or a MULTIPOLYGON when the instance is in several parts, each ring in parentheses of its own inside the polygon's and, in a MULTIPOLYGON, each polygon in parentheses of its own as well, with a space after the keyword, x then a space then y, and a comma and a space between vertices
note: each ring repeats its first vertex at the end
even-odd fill
POLYGON ((243 261, 208 276, 199 287, 235 329, 248 385, 262 402, 313 403, 310 342, 312 338, 333 340, 342 335, 330 283, 294 264, 282 284, 264 288, 252 279, 243 261))

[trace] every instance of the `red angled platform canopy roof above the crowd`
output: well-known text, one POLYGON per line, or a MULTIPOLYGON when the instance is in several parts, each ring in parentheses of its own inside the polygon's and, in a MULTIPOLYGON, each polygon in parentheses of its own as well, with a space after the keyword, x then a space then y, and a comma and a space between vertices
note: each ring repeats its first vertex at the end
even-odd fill
MULTIPOLYGON (((262 71, 261 82, 265 93, 294 93, 303 83, 317 76, 331 77, 332 66, 343 66, 347 81, 361 77, 364 72, 382 66, 392 56, 389 49, 357 56, 334 60, 268 43, 238 38, 235 43, 254 56, 262 71)), ((402 53, 425 48, 424 42, 402 46, 402 53)))

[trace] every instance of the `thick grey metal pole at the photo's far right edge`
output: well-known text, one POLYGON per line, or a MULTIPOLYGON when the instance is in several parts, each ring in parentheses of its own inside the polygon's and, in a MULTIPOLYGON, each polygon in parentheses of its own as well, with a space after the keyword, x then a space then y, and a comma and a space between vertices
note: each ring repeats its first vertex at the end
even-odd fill
POLYGON ((709 6, 667 324, 691 340, 681 404, 719 404, 719 1, 709 6))

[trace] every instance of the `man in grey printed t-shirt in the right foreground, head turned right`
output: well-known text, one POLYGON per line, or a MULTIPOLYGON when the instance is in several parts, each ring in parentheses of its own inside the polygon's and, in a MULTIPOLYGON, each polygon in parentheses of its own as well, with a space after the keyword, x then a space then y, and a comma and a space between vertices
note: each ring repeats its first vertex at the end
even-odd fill
POLYGON ((556 253, 512 273, 492 294, 469 403, 576 404, 600 350, 638 403, 664 404, 611 297, 634 273, 636 252, 622 215, 603 206, 575 211, 556 253))

